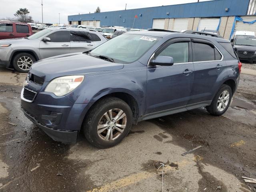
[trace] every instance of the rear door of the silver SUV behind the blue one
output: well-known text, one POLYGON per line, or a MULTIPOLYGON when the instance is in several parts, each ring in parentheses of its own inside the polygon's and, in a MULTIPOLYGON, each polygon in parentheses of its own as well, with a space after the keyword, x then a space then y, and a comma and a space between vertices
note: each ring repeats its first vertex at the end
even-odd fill
POLYGON ((70 31, 70 52, 85 52, 95 48, 90 32, 86 30, 70 31))

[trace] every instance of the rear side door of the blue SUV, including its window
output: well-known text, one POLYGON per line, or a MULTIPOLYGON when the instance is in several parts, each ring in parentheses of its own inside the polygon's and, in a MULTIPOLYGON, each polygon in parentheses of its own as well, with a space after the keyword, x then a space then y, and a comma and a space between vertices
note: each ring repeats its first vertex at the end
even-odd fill
POLYGON ((220 51, 208 40, 192 39, 194 82, 188 109, 210 104, 215 94, 218 77, 225 73, 226 62, 220 51))

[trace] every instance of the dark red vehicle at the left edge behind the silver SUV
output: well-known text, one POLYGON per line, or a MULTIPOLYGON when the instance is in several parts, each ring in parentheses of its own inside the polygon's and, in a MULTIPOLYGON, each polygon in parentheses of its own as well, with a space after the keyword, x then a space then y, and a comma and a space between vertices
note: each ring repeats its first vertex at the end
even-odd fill
POLYGON ((28 37, 32 34, 30 24, 0 21, 0 39, 28 37))

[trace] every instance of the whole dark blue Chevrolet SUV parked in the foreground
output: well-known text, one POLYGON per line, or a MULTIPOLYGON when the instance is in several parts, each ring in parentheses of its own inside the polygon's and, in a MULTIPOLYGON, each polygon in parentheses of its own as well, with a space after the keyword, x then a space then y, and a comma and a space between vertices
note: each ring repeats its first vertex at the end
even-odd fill
POLYGON ((34 63, 21 109, 53 140, 76 142, 83 130, 91 144, 108 148, 142 120, 200 107, 222 115, 241 66, 223 38, 128 32, 88 52, 34 63))

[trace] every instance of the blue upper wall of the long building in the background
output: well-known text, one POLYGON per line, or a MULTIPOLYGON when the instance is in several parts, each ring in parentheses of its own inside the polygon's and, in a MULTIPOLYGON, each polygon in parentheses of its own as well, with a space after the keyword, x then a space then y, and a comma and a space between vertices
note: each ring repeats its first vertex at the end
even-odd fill
POLYGON ((246 15, 250 0, 212 0, 199 3, 149 7, 68 16, 68 21, 100 20, 100 26, 151 28, 154 18, 220 17, 246 15), (225 8, 229 8, 226 12, 225 8), (166 13, 170 12, 169 15, 166 13), (139 16, 142 14, 142 16, 139 16), (120 17, 121 15, 121 17, 120 17), (105 18, 106 17, 106 18, 105 18), (123 23, 123 19, 125 22, 123 23))

